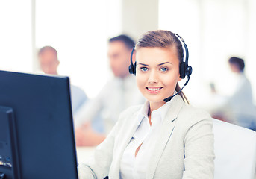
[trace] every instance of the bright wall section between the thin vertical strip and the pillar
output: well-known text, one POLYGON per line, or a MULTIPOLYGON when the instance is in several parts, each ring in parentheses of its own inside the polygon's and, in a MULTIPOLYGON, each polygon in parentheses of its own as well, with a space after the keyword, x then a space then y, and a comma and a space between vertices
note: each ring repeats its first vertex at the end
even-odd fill
POLYGON ((107 39, 120 31, 119 6, 113 0, 36 2, 36 48, 56 48, 59 74, 68 75, 89 97, 97 95, 111 75, 107 39))

